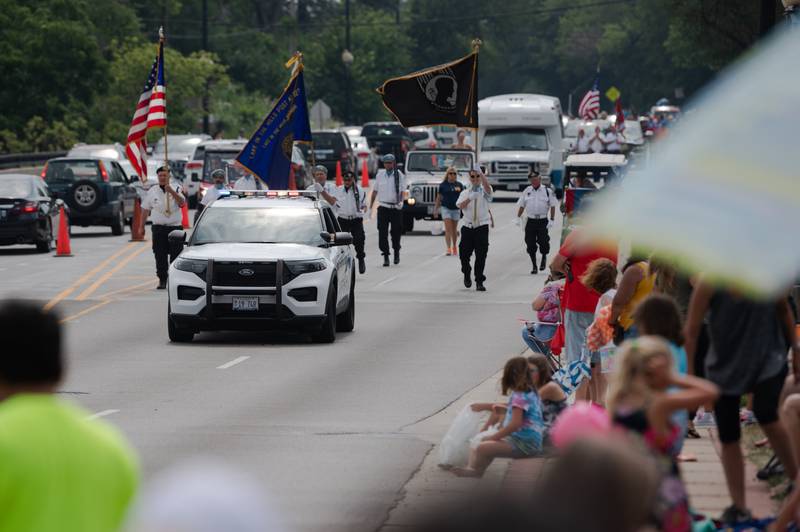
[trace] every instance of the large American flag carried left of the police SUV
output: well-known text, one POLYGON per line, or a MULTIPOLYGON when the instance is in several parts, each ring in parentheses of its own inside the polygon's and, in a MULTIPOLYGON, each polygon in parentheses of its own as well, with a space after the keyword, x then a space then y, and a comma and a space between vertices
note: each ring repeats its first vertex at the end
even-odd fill
POLYGON ((158 56, 139 96, 133 113, 125 153, 142 181, 147 179, 147 130, 166 127, 167 100, 164 83, 164 41, 158 46, 158 56))

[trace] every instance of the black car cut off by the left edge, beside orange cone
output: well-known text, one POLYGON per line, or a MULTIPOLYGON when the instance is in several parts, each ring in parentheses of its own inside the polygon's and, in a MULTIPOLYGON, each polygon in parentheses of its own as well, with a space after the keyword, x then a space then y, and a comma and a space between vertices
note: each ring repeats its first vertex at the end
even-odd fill
POLYGON ((38 176, 0 175, 0 246, 33 244, 41 253, 53 249, 63 203, 50 197, 38 176))

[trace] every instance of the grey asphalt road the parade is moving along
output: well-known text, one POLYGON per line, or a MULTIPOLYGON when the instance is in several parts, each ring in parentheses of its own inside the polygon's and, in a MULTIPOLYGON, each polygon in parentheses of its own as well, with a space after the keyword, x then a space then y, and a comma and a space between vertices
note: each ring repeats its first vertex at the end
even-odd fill
POLYGON ((258 333, 170 344, 149 242, 101 227, 75 230, 73 257, 0 248, 0 297, 60 313, 63 393, 122 429, 146 478, 190 456, 220 457, 263 482, 290 530, 372 531, 430 449, 401 429, 524 348, 517 318, 530 315, 543 275, 529 273, 514 211, 493 207, 485 293, 464 288, 428 222, 403 238, 399 266, 380 267, 368 222, 356 329, 332 345, 258 333))

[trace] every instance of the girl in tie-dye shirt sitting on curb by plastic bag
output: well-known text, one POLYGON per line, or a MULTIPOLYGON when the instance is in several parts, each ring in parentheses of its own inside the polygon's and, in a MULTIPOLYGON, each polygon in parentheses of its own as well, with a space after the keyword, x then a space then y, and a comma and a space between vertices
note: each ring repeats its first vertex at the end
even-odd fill
POLYGON ((498 457, 521 458, 542 450, 542 402, 524 357, 514 357, 506 362, 501 386, 503 395, 511 393, 503 427, 486 436, 477 448, 471 450, 466 468, 452 470, 460 477, 483 476, 492 460, 498 457))

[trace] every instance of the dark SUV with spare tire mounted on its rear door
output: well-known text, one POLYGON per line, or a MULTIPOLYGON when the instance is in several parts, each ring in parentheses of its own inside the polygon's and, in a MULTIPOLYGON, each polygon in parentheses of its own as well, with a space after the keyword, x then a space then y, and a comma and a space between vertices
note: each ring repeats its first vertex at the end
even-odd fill
POLYGON ((71 225, 105 225, 111 234, 121 235, 133 218, 138 177, 128 178, 122 166, 101 157, 58 157, 50 159, 41 177, 51 195, 70 208, 71 225))

